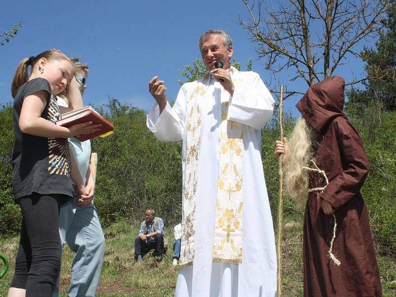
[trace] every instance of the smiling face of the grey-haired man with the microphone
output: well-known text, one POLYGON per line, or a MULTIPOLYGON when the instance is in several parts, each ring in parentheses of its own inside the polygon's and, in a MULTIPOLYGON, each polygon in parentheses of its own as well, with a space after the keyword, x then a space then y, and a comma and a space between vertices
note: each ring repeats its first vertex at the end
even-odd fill
POLYGON ((211 35, 206 41, 202 42, 200 50, 203 63, 209 71, 215 68, 216 60, 223 62, 224 69, 230 68, 233 48, 230 46, 229 49, 226 49, 220 35, 211 35))

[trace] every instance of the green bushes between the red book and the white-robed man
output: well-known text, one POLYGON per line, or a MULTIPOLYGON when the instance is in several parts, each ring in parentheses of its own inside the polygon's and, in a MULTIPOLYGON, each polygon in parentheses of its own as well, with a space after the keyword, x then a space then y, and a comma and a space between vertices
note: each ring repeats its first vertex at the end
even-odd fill
POLYGON ((163 143, 146 127, 146 112, 117 99, 95 107, 115 126, 94 138, 98 153, 95 205, 104 225, 120 218, 142 220, 148 206, 166 222, 181 218, 181 143, 163 143))

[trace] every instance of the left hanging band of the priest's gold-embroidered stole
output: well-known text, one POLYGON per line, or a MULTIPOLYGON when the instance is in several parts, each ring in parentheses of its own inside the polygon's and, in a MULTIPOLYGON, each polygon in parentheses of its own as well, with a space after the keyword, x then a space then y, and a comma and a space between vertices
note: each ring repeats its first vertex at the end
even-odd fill
MULTIPOLYGON (((208 80, 209 76, 205 77, 205 79, 208 80)), ((186 107, 188 114, 186 125, 186 170, 182 210, 183 236, 179 265, 181 268, 193 264, 195 255, 195 214, 197 209, 199 144, 202 121, 200 104, 209 86, 209 83, 205 85, 202 82, 197 82, 196 88, 188 98, 186 107)))

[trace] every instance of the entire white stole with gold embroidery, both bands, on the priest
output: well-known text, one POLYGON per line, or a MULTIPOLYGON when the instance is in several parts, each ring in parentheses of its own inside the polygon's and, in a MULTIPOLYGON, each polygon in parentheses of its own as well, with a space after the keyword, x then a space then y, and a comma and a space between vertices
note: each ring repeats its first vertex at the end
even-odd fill
MULTIPOLYGON (((234 85, 242 82, 238 70, 232 67, 234 85)), ((207 75, 189 95, 186 124, 186 169, 182 210, 182 244, 180 268, 194 262, 195 215, 201 131, 201 107, 209 87, 207 75)), ((222 89, 222 92, 227 91, 222 89)), ((224 97, 224 93, 223 96, 224 97)), ((243 125, 227 120, 229 105, 222 102, 220 124, 220 156, 216 220, 214 226, 213 260, 231 263, 242 262, 242 171, 243 171, 243 125)))

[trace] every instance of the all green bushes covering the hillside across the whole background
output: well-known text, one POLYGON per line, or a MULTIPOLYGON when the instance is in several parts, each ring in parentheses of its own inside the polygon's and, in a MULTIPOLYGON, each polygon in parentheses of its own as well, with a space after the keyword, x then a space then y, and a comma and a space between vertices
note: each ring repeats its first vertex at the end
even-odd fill
MULTIPOLYGON (((119 220, 143 220, 146 207, 154 207, 165 224, 180 222, 182 205, 181 143, 157 141, 146 127, 146 112, 111 99, 96 107, 114 123, 114 134, 92 140, 98 153, 95 205, 104 226, 119 220)), ((276 227, 279 173, 274 157, 279 139, 277 113, 262 131, 261 154, 265 181, 276 227)), ((382 251, 396 250, 396 112, 367 110, 351 117, 362 137, 371 170, 361 190, 367 203, 376 245, 382 251), (377 114, 377 116, 373 116, 377 114), (378 116, 380 114, 381 116, 378 116)), ((285 135, 295 119, 285 116, 285 135)), ((16 232, 20 226, 19 206, 11 190, 13 147, 12 106, 0 105, 0 233, 16 232)), ((285 196, 285 215, 296 215, 294 203, 285 196)))

